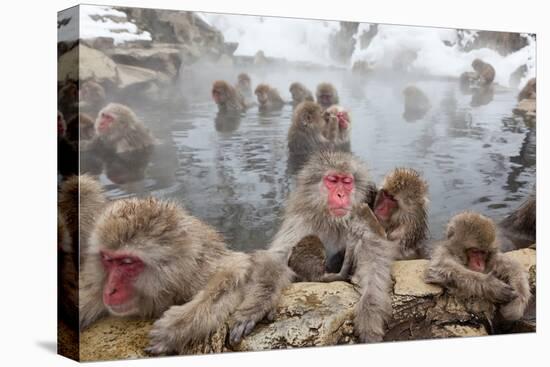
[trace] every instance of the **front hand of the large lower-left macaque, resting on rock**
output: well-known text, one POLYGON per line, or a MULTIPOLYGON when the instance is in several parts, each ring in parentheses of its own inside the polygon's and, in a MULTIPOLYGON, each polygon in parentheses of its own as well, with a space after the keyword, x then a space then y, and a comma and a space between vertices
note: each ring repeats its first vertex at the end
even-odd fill
POLYGON ((182 306, 172 306, 160 319, 155 321, 149 332, 149 346, 145 351, 159 355, 168 353, 183 353, 193 338, 193 313, 189 303, 182 306))

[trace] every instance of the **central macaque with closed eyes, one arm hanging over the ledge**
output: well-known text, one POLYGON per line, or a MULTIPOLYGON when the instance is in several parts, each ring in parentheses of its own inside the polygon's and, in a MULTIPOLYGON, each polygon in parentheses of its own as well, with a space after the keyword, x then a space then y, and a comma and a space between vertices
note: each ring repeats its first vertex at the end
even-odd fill
POLYGON ((346 246, 355 249, 354 279, 362 288, 356 333, 363 342, 376 342, 382 340, 391 315, 393 246, 380 240, 357 215, 368 189, 367 169, 350 153, 315 154, 298 174, 269 251, 287 264, 293 247, 311 234, 324 244, 327 260, 346 246))

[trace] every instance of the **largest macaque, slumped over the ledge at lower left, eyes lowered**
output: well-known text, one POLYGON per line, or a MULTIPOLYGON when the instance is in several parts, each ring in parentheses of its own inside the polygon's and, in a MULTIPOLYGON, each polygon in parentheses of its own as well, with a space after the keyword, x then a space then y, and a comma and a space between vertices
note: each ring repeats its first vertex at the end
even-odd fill
POLYGON ((98 318, 157 318, 150 353, 184 353, 232 316, 233 341, 273 310, 289 269, 266 251, 227 249, 210 226, 155 198, 114 202, 92 231, 81 272, 80 325, 98 318), (258 304, 250 304, 245 294, 258 304))

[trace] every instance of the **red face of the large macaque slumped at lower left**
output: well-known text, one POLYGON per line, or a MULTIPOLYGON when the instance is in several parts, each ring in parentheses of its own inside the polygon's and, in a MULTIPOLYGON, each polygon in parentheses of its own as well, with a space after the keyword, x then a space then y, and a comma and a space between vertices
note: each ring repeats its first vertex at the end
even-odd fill
POLYGON ((101 263, 107 273, 103 288, 103 303, 113 313, 128 315, 136 307, 134 283, 145 265, 134 255, 101 251, 101 263))

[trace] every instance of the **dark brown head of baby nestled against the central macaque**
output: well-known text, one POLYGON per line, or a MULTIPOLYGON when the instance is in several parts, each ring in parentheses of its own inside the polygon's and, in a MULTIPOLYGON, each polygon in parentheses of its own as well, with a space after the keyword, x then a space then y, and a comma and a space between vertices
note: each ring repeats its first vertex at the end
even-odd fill
POLYGON ((318 281, 325 274, 325 247, 319 237, 310 235, 302 238, 292 248, 288 266, 296 273, 296 280, 318 281))

